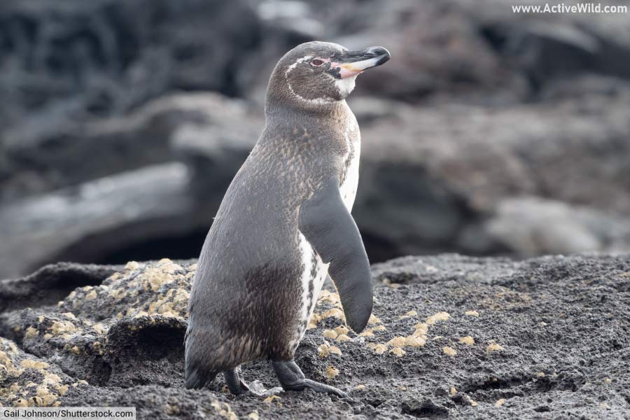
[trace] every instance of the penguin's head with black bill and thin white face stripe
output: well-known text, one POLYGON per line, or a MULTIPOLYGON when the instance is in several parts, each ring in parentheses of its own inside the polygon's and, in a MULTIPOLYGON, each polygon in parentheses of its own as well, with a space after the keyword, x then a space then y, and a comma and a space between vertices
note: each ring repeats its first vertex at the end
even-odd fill
POLYGON ((334 104, 352 92, 356 76, 389 58, 383 47, 349 51, 335 43, 302 43, 276 64, 267 94, 302 107, 334 104))

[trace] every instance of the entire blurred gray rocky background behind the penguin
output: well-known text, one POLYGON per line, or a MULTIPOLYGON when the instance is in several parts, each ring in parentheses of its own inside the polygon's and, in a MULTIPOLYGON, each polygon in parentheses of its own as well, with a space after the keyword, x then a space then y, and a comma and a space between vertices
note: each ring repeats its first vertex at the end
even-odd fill
POLYGON ((629 250, 630 15, 512 4, 2 1, 0 278, 197 257, 272 67, 313 39, 392 53, 349 100, 372 262, 629 250))

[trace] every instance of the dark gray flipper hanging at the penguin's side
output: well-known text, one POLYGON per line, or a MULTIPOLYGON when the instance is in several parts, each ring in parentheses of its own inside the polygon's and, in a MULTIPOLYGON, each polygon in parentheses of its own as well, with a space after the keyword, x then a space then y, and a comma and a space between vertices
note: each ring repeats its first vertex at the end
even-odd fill
POLYGON ((372 314, 370 262, 354 219, 329 179, 300 206, 298 227, 323 262, 337 287, 346 323, 361 332, 372 314))

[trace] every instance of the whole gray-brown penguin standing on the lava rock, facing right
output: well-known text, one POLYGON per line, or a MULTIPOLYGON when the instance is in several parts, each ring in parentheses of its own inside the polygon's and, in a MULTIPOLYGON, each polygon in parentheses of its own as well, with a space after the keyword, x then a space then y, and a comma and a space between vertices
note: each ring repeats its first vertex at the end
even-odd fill
POLYGON ((188 303, 186 388, 223 372, 250 392, 239 366, 267 359, 285 391, 344 391, 304 377, 294 361, 326 276, 355 332, 372 314, 370 262, 350 211, 360 134, 346 97, 382 47, 297 45, 276 64, 265 127, 223 197, 204 241, 188 303))

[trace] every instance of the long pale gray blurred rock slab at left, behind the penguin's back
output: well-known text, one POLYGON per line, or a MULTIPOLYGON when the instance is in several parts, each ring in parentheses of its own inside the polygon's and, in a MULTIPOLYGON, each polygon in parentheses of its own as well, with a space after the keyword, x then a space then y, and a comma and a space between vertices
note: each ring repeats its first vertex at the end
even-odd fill
POLYGON ((1 275, 67 258, 94 260, 118 244, 190 230, 209 213, 189 183, 187 167, 169 163, 2 207, 1 275))

